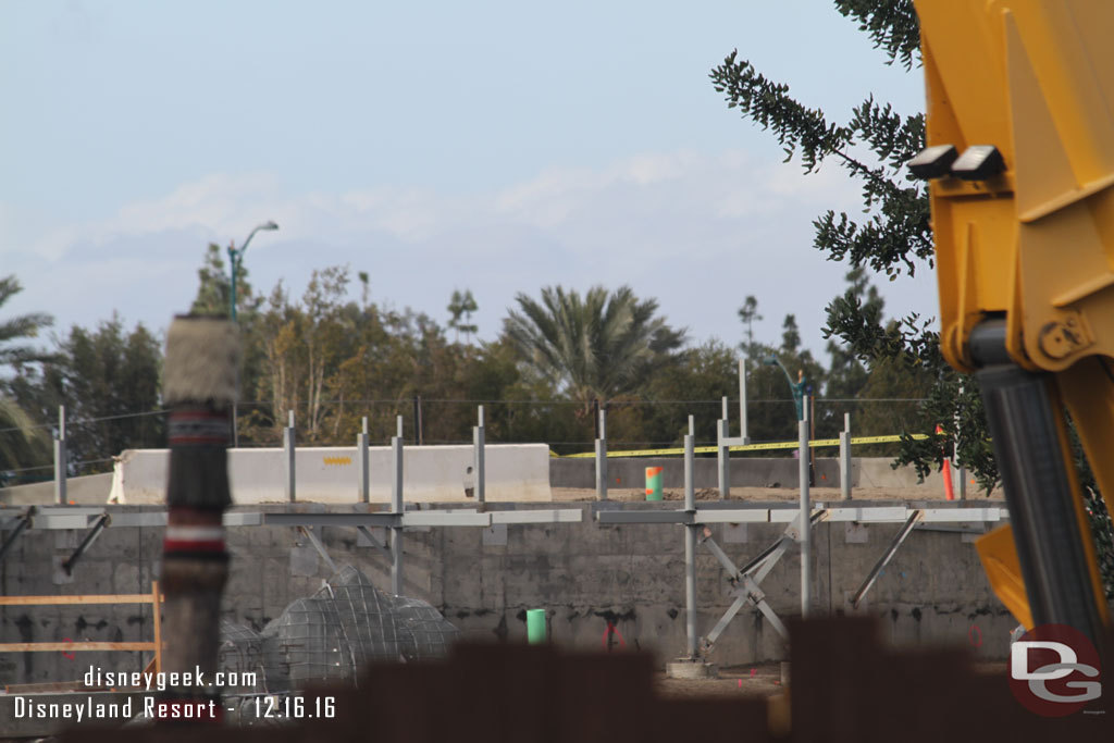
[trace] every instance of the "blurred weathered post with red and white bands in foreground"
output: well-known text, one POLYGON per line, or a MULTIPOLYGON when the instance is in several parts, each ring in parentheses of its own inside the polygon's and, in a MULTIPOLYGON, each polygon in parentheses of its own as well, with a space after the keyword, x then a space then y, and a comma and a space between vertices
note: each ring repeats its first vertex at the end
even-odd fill
MULTIPOLYGON (((178 315, 166 339, 164 401, 170 408, 167 526, 160 584, 163 671, 180 674, 159 698, 157 715, 194 707, 193 718, 221 717, 217 671, 221 594, 228 577, 224 510, 232 504, 227 449, 236 400, 236 325, 178 315)), ((173 676, 167 676, 173 678, 173 676)))

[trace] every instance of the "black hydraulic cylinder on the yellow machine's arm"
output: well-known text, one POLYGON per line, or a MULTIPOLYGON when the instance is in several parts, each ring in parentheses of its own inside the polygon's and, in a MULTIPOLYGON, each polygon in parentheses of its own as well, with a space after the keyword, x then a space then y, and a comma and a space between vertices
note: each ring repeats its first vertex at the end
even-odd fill
POLYGON ((1052 375, 1013 363, 1004 339, 1004 323, 991 321, 970 346, 1033 622, 1068 625, 1097 646, 1102 619, 1083 542, 1091 534, 1076 515, 1052 375))

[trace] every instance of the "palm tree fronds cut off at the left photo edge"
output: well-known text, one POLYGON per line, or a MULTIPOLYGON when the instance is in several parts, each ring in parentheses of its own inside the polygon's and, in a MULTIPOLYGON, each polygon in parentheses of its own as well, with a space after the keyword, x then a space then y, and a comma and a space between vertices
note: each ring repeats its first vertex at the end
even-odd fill
MULTIPOLYGON (((16 276, 0 278, 0 306, 22 291, 16 276)), ((45 359, 45 354, 27 344, 22 339, 35 338, 53 320, 50 315, 35 312, 0 321, 0 366, 12 366, 45 359)), ((12 400, 0 380, 0 467, 17 467, 29 451, 46 444, 46 433, 35 428, 30 417, 12 400)))

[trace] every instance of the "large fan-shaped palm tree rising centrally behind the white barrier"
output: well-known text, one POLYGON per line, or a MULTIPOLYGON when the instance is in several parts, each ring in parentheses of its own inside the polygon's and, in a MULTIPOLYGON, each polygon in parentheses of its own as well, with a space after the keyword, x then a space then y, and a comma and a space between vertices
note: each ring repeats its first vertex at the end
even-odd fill
POLYGON ((541 302, 516 297, 505 330, 522 358, 586 414, 593 400, 634 391, 658 362, 684 343, 684 331, 655 317, 657 302, 639 301, 628 286, 608 294, 594 286, 582 296, 560 286, 541 290, 541 302))

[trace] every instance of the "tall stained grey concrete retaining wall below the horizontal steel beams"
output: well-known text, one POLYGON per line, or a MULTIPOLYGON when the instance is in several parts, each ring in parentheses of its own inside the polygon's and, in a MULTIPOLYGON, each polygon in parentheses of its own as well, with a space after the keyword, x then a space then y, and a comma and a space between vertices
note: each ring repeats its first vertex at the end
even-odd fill
MULTIPOLYGON (((504 507, 514 506, 494 506, 504 507)), ((683 528, 602 527, 594 520, 599 506, 577 507, 585 511, 582 524, 408 530, 407 593, 431 602, 462 630, 479 638, 522 642, 526 609, 545 608, 551 636, 558 643, 600 647, 612 622, 627 646, 653 649, 663 662, 683 653, 683 528)), ((817 528, 812 573, 817 610, 849 610, 847 597, 898 528, 896 524, 822 524, 817 528)), ((715 525, 711 529, 740 566, 781 532, 774 525, 715 525)), ((149 590, 157 575, 162 532, 158 528, 106 529, 72 577, 58 566, 77 546, 78 532, 25 532, 0 565, 0 589, 6 595, 149 590)), ((390 586, 387 560, 354 530, 324 528, 321 536, 338 564, 351 563, 380 588, 390 586)), ((1007 634, 1015 623, 991 596, 974 545, 967 539, 956 532, 915 531, 878 579, 864 610, 882 616, 898 643, 980 644, 978 653, 1004 657, 1007 634)), ((227 618, 235 622, 262 628, 290 602, 313 593, 328 577, 324 561, 294 529, 234 528, 228 542, 233 563, 224 608, 227 618)), ((697 555, 697 626, 705 634, 733 597, 719 563, 704 549, 697 555)), ((786 555, 762 584, 783 617, 794 614, 800 605, 798 560, 795 554, 786 555)), ((2 642, 139 641, 149 639, 152 632, 149 607, 136 605, 0 608, 2 642)), ((782 656, 778 636, 750 608, 740 613, 713 654, 723 664, 782 656)), ((90 664, 123 671, 139 669, 140 663, 137 653, 0 654, 0 684, 74 680, 90 664)))

